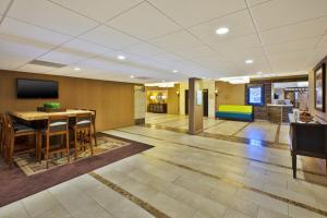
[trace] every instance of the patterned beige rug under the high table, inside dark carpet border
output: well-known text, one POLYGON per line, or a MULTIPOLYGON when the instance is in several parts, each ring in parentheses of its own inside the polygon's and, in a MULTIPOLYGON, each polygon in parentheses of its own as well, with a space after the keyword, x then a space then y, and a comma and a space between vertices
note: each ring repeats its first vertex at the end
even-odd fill
MULTIPOLYGON (((121 141, 118 138, 110 137, 109 135, 100 135, 97 137, 98 146, 93 148, 94 156, 114 150, 117 148, 121 148, 130 145, 130 142, 121 141)), ((87 157, 92 157, 90 149, 86 149, 78 153, 78 158, 74 159, 74 150, 71 150, 70 160, 71 162, 78 161, 85 159, 87 157)), ((21 170, 26 175, 32 175, 36 173, 44 172, 49 169, 53 169, 58 166, 66 165, 66 157, 63 154, 63 157, 60 155, 52 155, 51 160, 49 161, 49 169, 46 168, 46 161, 43 160, 40 164, 36 161, 35 154, 22 154, 14 158, 15 165, 21 168, 21 170)))

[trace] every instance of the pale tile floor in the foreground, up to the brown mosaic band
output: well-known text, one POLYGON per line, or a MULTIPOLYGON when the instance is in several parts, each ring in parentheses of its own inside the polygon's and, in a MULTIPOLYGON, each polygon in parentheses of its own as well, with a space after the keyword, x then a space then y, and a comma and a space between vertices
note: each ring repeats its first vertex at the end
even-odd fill
POLYGON ((147 126, 106 133, 155 147, 4 206, 0 217, 327 217, 324 160, 299 157, 294 180, 287 149, 147 126))

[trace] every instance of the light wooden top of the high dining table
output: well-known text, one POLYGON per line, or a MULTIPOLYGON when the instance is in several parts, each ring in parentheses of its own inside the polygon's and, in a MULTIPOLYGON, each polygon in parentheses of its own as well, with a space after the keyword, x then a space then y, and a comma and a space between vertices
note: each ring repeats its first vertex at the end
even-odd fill
POLYGON ((68 117, 76 117, 80 113, 92 113, 90 110, 70 110, 63 112, 41 112, 41 111, 12 111, 10 112, 11 116, 26 120, 26 121, 34 121, 34 120, 47 120, 51 116, 68 116, 68 117))

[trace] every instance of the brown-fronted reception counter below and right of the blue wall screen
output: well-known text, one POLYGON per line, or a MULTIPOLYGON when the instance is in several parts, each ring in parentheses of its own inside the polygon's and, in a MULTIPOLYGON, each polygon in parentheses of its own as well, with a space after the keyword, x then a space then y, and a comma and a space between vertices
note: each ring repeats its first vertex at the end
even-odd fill
POLYGON ((268 120, 272 123, 290 122, 289 113, 293 112, 292 105, 267 104, 268 120))

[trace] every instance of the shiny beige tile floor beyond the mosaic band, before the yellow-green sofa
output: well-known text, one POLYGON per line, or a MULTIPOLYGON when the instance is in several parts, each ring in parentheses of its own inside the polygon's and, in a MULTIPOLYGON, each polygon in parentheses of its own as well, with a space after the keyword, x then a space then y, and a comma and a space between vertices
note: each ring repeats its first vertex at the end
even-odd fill
MULTIPOLYGON (((187 116, 147 113, 145 121, 148 124, 187 130, 187 116)), ((278 124, 268 121, 255 121, 250 123, 205 118, 204 132, 270 143, 275 143, 277 140, 277 143, 289 144, 289 125, 281 125, 278 136, 278 124)))

